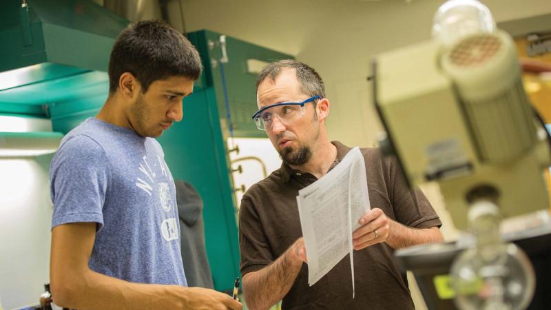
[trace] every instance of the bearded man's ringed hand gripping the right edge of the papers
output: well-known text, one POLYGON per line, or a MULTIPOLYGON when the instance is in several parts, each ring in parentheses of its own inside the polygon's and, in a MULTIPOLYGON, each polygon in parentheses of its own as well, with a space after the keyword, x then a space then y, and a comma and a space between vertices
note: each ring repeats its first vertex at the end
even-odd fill
POLYGON ((382 209, 375 208, 366 212, 360 218, 362 227, 352 234, 354 249, 359 251, 370 245, 385 242, 391 235, 391 222, 382 209))

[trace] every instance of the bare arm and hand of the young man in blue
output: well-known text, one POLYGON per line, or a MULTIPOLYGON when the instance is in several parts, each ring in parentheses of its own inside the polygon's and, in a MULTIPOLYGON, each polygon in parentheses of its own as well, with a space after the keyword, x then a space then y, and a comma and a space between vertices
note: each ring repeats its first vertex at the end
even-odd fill
POLYGON ((198 287, 138 284, 88 268, 96 223, 52 230, 50 285, 54 302, 72 309, 242 309, 224 293, 198 287))

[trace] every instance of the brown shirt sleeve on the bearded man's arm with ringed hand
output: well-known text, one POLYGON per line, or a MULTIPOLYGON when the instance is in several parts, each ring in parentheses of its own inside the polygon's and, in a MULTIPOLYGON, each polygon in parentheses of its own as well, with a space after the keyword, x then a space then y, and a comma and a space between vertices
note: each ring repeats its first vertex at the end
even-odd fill
POLYGON ((395 159, 390 161, 393 193, 391 199, 396 220, 408 227, 430 228, 442 225, 438 214, 421 189, 408 187, 406 176, 395 159))

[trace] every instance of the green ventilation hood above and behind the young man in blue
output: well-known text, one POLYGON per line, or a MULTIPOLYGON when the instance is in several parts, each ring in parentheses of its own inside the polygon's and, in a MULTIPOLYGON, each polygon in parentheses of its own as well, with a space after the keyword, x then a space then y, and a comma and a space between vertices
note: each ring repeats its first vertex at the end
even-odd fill
POLYGON ((50 116, 52 104, 107 94, 126 19, 87 0, 3 0, 0 114, 50 116))

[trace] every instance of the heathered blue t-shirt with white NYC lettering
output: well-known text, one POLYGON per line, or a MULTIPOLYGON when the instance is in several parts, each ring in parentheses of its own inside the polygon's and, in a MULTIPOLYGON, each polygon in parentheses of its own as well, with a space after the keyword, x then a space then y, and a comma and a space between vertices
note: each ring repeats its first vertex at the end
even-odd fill
POLYGON ((187 286, 176 188, 154 138, 88 118, 50 166, 52 229, 97 223, 90 269, 140 283, 187 286))

